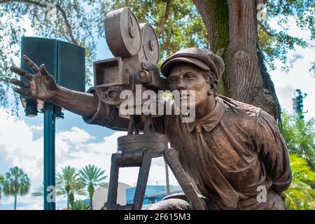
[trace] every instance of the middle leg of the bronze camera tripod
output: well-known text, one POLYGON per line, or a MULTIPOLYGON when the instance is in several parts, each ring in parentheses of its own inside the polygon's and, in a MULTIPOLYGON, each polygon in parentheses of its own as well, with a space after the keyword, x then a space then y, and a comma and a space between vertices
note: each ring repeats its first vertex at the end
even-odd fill
POLYGON ((151 167, 151 152, 144 151, 142 155, 142 165, 139 169, 136 192, 134 193, 134 210, 141 210, 144 202, 144 194, 146 193, 146 184, 148 182, 148 173, 151 167))

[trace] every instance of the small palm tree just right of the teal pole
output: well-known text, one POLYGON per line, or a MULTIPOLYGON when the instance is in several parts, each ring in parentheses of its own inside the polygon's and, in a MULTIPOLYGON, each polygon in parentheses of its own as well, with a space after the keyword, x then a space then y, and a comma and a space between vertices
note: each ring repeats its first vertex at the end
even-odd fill
POLYGON ((57 173, 56 176, 56 195, 65 195, 67 197, 67 209, 73 207, 74 195, 85 195, 83 191, 84 185, 78 179, 78 172, 76 168, 66 166, 62 168, 61 173, 57 173))

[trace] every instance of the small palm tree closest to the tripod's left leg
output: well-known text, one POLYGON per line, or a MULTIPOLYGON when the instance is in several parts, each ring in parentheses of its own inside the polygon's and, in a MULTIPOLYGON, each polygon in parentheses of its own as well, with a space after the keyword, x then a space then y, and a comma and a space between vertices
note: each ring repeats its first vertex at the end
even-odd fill
POLYGON ((80 181, 84 183, 87 193, 90 197, 90 210, 92 210, 92 198, 95 188, 104 187, 107 188, 108 184, 103 182, 107 176, 104 175, 105 170, 97 168, 94 165, 87 165, 80 169, 80 181))

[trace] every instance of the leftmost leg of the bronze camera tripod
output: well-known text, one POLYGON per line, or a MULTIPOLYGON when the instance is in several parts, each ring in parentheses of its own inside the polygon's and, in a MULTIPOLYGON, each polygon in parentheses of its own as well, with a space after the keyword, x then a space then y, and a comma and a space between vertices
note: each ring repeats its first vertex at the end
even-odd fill
POLYGON ((111 176, 109 178, 109 195, 107 197, 107 210, 116 209, 117 190, 118 190, 118 174, 119 165, 118 157, 120 153, 113 153, 111 155, 111 176))

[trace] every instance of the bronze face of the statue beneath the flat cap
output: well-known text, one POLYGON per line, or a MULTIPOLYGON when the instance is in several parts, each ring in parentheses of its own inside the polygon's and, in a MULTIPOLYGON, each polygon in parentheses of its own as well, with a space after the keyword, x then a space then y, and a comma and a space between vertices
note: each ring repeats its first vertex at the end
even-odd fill
MULTIPOLYGON (((177 64, 169 73, 168 80, 171 91, 187 90, 188 109, 191 96, 195 96, 196 109, 209 97, 209 80, 206 80, 202 73, 201 69, 190 64, 177 64)), ((185 99, 181 98, 181 100, 185 99)))

